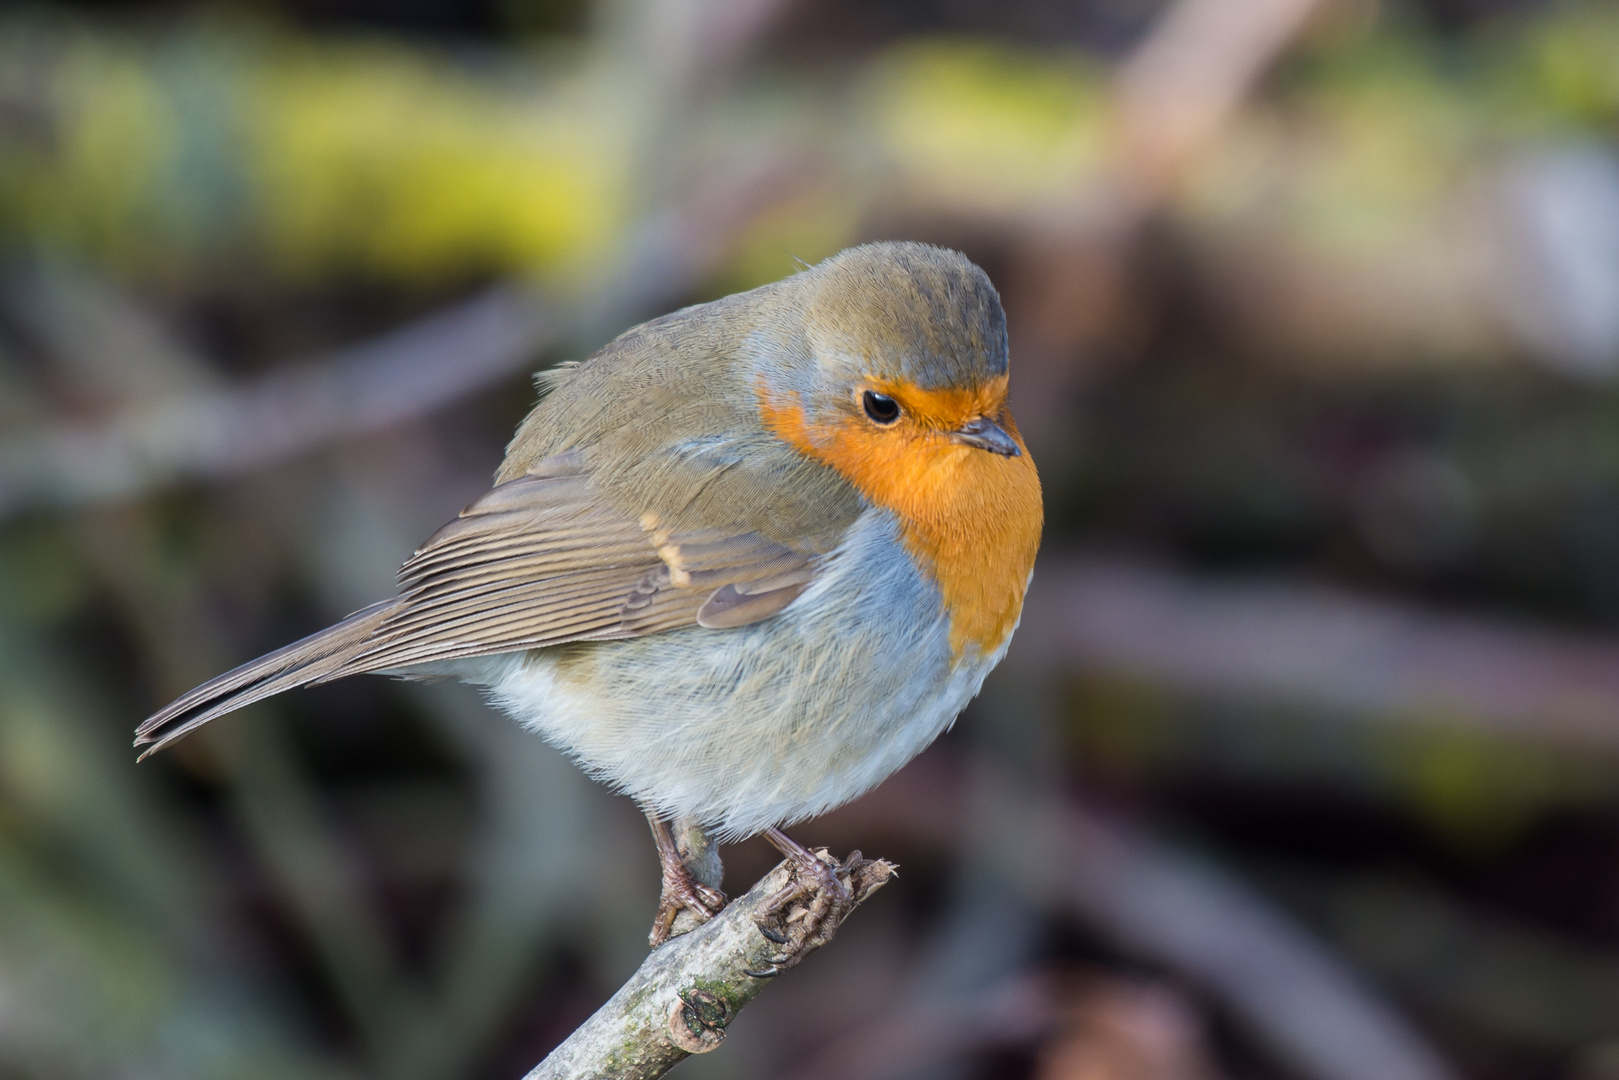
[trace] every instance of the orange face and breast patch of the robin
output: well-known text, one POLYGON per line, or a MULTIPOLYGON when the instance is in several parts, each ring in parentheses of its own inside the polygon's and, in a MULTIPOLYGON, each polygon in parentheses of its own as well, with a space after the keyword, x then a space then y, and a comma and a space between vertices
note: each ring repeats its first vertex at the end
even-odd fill
POLYGON ((763 385, 759 413, 779 439, 899 517, 907 549, 944 596, 955 656, 968 644, 994 651, 1023 610, 1044 523, 1039 476, 1005 408, 1007 379, 937 390, 873 381, 856 389, 856 400, 865 390, 899 402, 900 418, 882 426, 856 411, 811 424, 795 397, 772 398, 763 385), (950 437, 979 416, 1001 424, 1023 453, 1007 458, 950 437))

